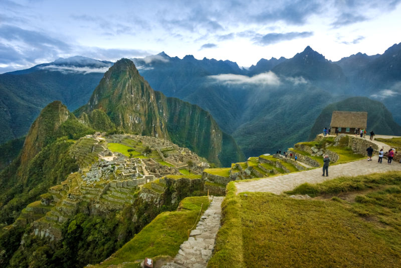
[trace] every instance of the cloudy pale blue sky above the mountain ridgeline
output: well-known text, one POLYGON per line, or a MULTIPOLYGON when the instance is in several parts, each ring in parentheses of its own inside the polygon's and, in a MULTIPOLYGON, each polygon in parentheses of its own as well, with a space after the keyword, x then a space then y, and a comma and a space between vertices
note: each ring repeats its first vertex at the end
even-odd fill
POLYGON ((75 55, 291 58, 311 46, 337 61, 401 42, 401 0, 0 0, 0 73, 75 55))

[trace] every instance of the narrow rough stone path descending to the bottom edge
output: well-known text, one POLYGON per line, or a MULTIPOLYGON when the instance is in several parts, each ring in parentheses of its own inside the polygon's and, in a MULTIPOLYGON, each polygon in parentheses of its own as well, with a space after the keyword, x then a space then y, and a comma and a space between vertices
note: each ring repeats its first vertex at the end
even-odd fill
POLYGON ((212 256, 217 231, 220 229, 223 196, 213 197, 209 208, 200 217, 196 229, 192 230, 188 240, 180 245, 173 262, 162 268, 206 268, 212 256))

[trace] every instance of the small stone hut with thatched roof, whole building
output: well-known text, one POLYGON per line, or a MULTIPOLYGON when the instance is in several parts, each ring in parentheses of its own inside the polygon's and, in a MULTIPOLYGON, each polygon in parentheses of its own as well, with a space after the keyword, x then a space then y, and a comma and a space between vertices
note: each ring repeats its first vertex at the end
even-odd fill
POLYGON ((367 112, 333 111, 331 115, 331 133, 337 128, 338 133, 353 134, 355 128, 366 129, 366 124, 367 112))

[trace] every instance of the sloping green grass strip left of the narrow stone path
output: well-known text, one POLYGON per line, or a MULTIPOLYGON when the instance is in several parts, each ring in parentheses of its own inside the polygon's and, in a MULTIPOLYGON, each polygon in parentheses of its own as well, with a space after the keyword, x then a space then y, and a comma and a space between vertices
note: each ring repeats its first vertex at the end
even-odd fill
MULTIPOLYGON (((145 257, 174 257, 179 245, 188 239, 192 227, 196 227, 197 216, 202 206, 209 206, 208 197, 184 198, 176 211, 163 212, 146 225, 138 234, 104 261, 100 267, 123 262, 136 262, 145 257)), ((137 267, 132 264, 131 267, 137 267)), ((138 266, 139 267, 139 266, 138 266)))

